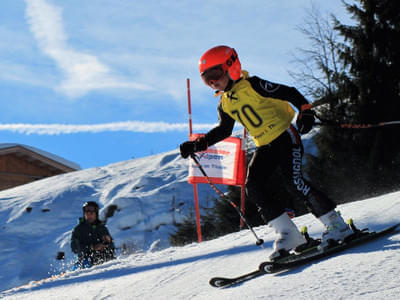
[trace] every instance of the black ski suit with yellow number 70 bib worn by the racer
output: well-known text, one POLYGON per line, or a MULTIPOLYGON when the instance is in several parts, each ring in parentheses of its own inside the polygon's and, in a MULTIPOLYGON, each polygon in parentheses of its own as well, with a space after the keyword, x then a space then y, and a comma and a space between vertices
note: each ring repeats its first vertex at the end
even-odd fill
POLYGON ((257 148, 248 166, 246 197, 257 205, 266 223, 285 211, 279 200, 271 198, 267 184, 278 168, 285 176, 287 189, 296 199, 303 199, 316 217, 333 210, 336 204, 302 175, 303 145, 296 128, 290 124, 294 111, 288 102, 300 110, 307 100, 293 87, 247 74, 244 71, 243 78, 222 94, 219 125, 205 135, 207 145, 230 136, 235 121, 247 128, 257 148))

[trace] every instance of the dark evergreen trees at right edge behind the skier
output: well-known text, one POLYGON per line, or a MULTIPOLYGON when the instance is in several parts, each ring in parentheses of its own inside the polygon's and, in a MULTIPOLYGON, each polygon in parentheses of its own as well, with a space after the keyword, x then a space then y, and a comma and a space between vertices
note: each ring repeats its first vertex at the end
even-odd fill
MULTIPOLYGON (((340 123, 400 120, 400 2, 358 2, 344 3, 354 25, 334 21, 344 38, 337 45, 342 68, 319 114, 340 123)), ((398 189, 399 139, 396 127, 325 127, 315 138, 319 154, 309 160, 308 173, 338 202, 398 189)))

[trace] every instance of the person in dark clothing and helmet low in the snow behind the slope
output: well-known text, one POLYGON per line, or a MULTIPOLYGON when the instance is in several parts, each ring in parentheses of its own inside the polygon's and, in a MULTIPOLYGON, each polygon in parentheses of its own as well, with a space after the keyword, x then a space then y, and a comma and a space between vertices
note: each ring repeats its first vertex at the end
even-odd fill
POLYGON ((107 227, 99 220, 99 206, 86 202, 83 218, 72 231, 71 250, 78 255, 78 268, 87 268, 114 259, 114 243, 107 227))

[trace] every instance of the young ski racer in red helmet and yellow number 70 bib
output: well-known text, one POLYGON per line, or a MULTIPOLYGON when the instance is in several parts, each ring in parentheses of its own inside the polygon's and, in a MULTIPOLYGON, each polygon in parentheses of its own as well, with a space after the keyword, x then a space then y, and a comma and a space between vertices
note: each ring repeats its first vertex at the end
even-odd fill
POLYGON ((241 69, 236 51, 228 46, 217 46, 206 51, 199 61, 204 83, 220 96, 219 124, 204 137, 180 145, 183 158, 206 150, 232 134, 235 121, 240 122, 252 136, 257 149, 248 166, 246 196, 253 201, 264 221, 275 229, 271 260, 306 243, 296 225, 285 212, 285 207, 268 193, 268 179, 280 168, 296 199, 302 199, 309 210, 323 223, 321 247, 331 240, 343 240, 353 232, 335 211, 336 204, 323 192, 314 188, 302 175, 303 145, 300 134, 314 125, 311 109, 302 110, 308 101, 297 89, 250 76, 241 69), (296 125, 289 102, 300 111, 296 125), (300 134, 299 134, 300 133, 300 134))

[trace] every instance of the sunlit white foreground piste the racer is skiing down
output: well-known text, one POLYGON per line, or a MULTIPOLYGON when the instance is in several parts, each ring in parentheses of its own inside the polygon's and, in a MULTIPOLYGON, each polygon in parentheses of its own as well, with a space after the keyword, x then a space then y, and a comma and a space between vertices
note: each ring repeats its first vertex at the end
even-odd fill
MULTIPOLYGON (((399 222, 400 193, 339 207, 356 225, 379 230, 399 222)), ((294 219, 318 236, 311 215, 294 219)), ((265 275, 237 287, 215 289, 211 276, 232 276, 257 267, 270 252, 274 233, 261 226, 265 240, 255 246, 248 230, 224 237, 143 252, 49 282, 14 288, 4 299, 399 299, 400 231, 329 259, 281 275, 265 275)))

